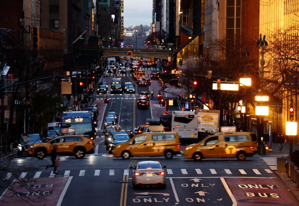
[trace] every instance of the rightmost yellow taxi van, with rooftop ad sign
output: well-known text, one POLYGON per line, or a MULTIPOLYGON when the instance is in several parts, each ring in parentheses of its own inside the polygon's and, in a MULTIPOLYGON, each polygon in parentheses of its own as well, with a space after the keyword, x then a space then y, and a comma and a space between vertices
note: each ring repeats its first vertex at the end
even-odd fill
POLYGON ((236 132, 236 127, 221 127, 221 132, 209 135, 184 150, 184 158, 200 161, 204 158, 234 158, 245 160, 257 152, 254 132, 236 132))

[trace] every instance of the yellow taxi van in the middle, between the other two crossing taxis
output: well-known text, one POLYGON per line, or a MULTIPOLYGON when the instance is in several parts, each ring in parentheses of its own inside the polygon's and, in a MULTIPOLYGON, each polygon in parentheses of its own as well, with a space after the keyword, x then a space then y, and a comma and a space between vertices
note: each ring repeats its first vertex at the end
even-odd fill
POLYGON ((180 154, 180 140, 177 132, 153 132, 136 135, 127 142, 115 145, 113 157, 163 156, 166 159, 180 154))

